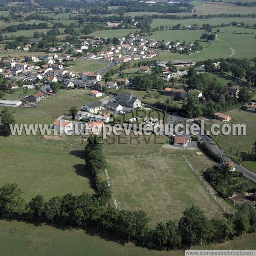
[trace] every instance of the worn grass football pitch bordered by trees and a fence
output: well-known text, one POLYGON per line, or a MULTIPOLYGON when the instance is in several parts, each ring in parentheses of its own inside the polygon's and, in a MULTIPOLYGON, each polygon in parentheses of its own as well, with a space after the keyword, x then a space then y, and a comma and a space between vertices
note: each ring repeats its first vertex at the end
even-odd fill
POLYGON ((179 219, 192 204, 201 207, 208 218, 221 218, 221 209, 182 156, 109 159, 108 164, 116 201, 122 202, 123 209, 147 212, 152 225, 179 219))

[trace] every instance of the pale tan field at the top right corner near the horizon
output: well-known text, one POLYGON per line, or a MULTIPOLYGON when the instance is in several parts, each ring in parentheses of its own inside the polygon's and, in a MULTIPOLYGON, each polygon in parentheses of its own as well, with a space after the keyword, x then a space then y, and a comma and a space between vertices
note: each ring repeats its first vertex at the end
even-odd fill
POLYGON ((195 6, 195 13, 200 15, 207 14, 250 14, 256 12, 256 6, 237 6, 233 3, 208 2, 199 6, 195 6))

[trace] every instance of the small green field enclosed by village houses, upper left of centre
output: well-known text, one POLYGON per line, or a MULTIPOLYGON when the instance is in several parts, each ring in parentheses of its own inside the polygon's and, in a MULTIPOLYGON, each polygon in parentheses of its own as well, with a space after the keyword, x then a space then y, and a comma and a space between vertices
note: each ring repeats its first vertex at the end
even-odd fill
POLYGON ((106 67, 107 65, 103 61, 91 61, 81 58, 76 58, 75 61, 70 62, 72 65, 76 65, 76 67, 70 67, 70 70, 75 72, 94 72, 99 70, 102 67, 106 67))

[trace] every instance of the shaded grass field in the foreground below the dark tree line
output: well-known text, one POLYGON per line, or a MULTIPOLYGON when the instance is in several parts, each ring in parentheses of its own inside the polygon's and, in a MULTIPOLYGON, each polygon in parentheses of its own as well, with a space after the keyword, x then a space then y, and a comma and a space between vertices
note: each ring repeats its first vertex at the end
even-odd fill
MULTIPOLYGON (((195 246, 196 250, 253 250, 255 249, 255 234, 245 234, 240 239, 234 239, 224 244, 195 246)), ((109 255, 120 256, 183 256, 183 250, 157 251, 126 243, 111 234, 97 230, 83 230, 48 225, 35 226, 17 221, 0 220, 1 253, 7 255, 109 255), (10 230, 16 229, 15 233, 10 230)))

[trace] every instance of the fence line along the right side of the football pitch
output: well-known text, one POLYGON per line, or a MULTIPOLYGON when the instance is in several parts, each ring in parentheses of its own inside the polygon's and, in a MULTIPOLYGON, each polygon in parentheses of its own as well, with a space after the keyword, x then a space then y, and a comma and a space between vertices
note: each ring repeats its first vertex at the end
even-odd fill
POLYGON ((221 209, 223 209, 223 212, 226 212, 229 215, 231 215, 230 208, 229 208, 230 205, 229 204, 225 204, 224 201, 221 201, 221 196, 215 191, 214 188, 212 188, 212 186, 209 184, 209 182, 204 179, 202 174, 199 175, 198 170, 196 170, 195 167, 192 166, 192 163, 189 163, 189 161, 186 159, 186 157, 184 157, 184 159, 185 159, 186 163, 189 165, 189 168, 192 170, 192 172, 196 175, 196 177, 198 177, 198 180, 201 181, 201 183, 204 186, 204 188, 212 196, 212 198, 214 199, 216 204, 218 204, 218 206, 221 207, 221 209), (218 196, 218 198, 217 198, 217 196, 218 196))

